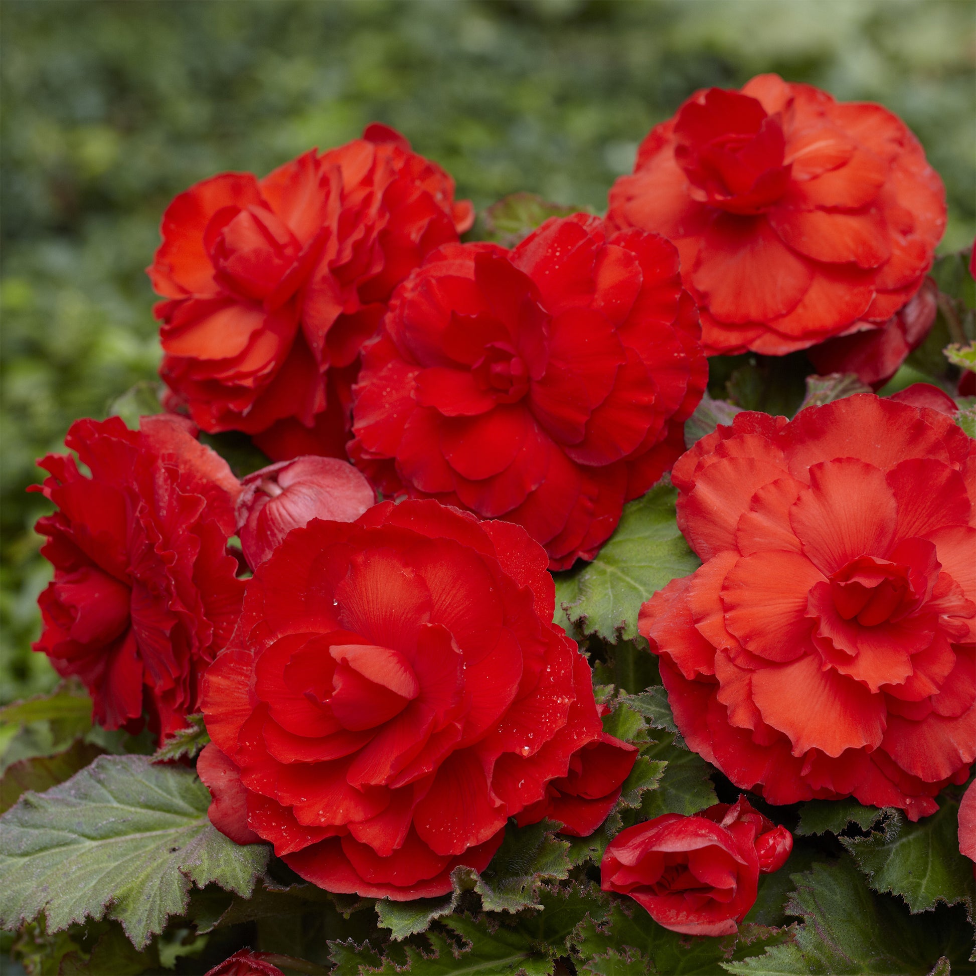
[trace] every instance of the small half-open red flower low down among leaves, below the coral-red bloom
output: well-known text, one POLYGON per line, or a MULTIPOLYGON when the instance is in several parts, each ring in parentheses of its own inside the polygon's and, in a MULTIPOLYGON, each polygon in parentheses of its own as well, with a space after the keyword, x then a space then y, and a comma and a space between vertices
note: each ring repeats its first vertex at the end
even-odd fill
POLYGON ((791 850, 793 835, 740 796, 617 834, 600 862, 600 887, 630 895, 672 932, 733 935, 755 903, 759 874, 778 871, 791 850))

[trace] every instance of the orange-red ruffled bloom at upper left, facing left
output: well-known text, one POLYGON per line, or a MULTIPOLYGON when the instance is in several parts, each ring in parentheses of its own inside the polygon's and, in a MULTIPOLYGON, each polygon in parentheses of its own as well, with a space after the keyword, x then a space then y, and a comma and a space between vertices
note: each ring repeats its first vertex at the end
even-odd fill
POLYGON ((258 434, 275 460, 344 456, 360 346, 393 288, 472 222, 451 178, 381 125, 263 180, 196 183, 148 268, 162 378, 204 430, 258 434))

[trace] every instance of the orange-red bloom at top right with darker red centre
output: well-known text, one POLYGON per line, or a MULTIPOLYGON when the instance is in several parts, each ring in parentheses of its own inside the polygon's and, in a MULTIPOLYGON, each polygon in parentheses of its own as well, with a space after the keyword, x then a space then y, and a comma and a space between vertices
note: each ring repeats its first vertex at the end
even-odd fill
POLYGON ((709 355, 783 355, 882 328, 915 295, 945 189, 887 109, 764 74, 651 130, 607 220, 677 245, 709 355))

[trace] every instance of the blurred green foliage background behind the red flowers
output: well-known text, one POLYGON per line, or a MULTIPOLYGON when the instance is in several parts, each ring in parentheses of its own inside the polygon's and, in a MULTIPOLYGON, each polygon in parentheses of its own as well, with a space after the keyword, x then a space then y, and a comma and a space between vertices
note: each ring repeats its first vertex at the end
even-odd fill
POLYGON ((968 0, 4 0, 2 18, 0 701, 53 683, 29 653, 33 461, 154 376, 142 268, 189 183, 376 119, 479 208, 524 189, 600 211, 695 89, 778 71, 899 113, 949 190, 944 249, 976 230, 968 0))

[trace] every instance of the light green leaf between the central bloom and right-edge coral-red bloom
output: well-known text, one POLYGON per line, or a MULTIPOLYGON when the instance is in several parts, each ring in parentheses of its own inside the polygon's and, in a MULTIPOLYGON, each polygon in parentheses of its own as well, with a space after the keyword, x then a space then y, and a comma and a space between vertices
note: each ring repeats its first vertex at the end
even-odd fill
POLYGON ((558 591, 569 620, 585 633, 611 642, 633 639, 640 605, 701 565, 674 521, 676 498, 670 484, 660 483, 624 506, 617 530, 596 558, 570 572, 576 589, 567 582, 558 591))

